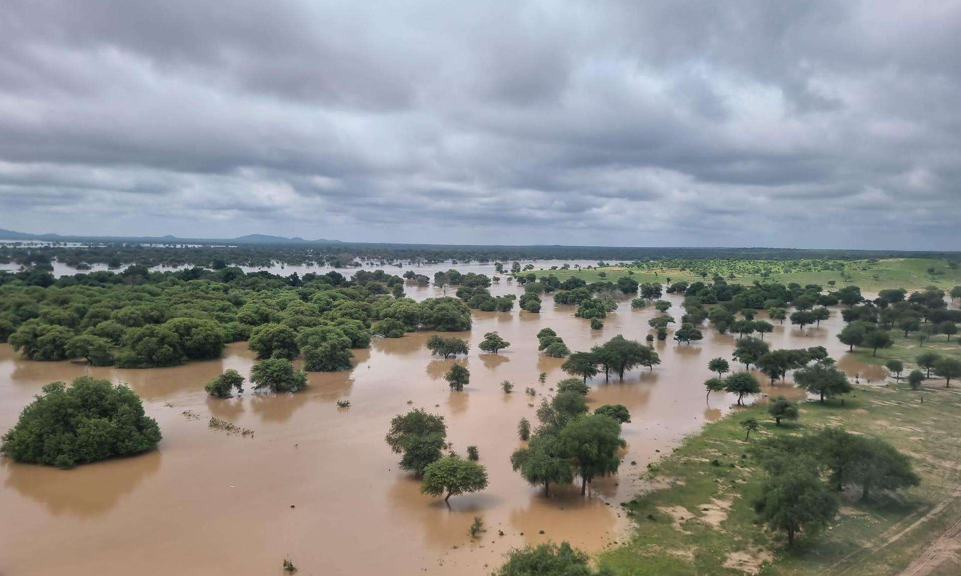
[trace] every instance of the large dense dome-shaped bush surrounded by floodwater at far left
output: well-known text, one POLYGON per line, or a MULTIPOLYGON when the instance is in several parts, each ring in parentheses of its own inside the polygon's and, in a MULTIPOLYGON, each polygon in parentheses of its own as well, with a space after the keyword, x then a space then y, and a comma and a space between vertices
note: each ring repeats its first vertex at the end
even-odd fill
POLYGON ((81 376, 53 382, 23 409, 0 452, 16 462, 70 468, 157 447, 160 427, 126 386, 81 376))

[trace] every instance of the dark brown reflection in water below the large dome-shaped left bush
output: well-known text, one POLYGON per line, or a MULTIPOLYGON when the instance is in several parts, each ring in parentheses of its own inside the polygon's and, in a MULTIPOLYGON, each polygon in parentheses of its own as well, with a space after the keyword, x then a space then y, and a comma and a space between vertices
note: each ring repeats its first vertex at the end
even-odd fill
POLYGON ((50 514, 100 516, 136 489, 143 479, 160 468, 160 451, 114 458, 77 468, 15 464, 4 459, 6 488, 43 504, 50 514))

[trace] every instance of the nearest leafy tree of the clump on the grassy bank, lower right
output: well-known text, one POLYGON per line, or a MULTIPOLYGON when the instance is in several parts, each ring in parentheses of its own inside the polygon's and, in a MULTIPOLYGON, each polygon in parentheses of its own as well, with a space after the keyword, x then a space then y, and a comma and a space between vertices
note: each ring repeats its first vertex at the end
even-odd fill
POLYGON ((838 497, 818 478, 817 465, 799 460, 790 468, 772 474, 754 503, 761 521, 772 530, 787 533, 788 546, 803 530, 814 535, 837 514, 838 497))

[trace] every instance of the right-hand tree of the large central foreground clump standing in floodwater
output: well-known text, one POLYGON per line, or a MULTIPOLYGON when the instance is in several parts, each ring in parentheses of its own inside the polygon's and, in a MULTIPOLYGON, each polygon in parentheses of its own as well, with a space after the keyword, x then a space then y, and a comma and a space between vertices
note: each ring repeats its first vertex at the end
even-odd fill
POLYGON ((621 438, 621 422, 608 416, 590 415, 569 421, 560 431, 560 444, 580 475, 580 493, 597 476, 617 472, 617 451, 627 445, 621 438))

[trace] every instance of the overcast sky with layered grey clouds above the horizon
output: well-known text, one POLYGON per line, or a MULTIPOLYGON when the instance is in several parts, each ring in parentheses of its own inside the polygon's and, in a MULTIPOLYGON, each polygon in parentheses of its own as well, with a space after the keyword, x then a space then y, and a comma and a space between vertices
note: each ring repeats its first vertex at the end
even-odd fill
POLYGON ((0 228, 958 250, 959 61, 961 0, 4 0, 0 228))

